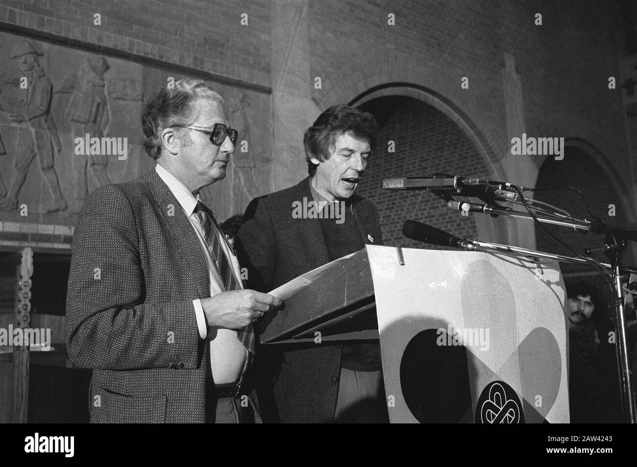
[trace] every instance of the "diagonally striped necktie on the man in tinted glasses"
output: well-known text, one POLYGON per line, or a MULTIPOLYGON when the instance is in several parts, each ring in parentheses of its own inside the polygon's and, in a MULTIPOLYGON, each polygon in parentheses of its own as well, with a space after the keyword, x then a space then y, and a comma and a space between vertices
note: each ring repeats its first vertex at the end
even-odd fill
MULTIPOLYGON (((217 272, 221 277, 224 291, 235 290, 237 288, 237 281, 239 279, 234 275, 232 263, 226 256, 225 250, 222 247, 222 242, 225 242, 225 237, 221 232, 215 216, 208 207, 202 202, 197 202, 194 214, 197 216, 197 220, 203 228, 204 239, 206 239, 206 245, 212 256, 217 272)), ((228 246, 230 248, 230 246, 228 246)), ((241 341, 243 346, 250 352, 254 353, 254 342, 252 342, 252 324, 248 324, 243 329, 237 330, 237 338, 241 341)))

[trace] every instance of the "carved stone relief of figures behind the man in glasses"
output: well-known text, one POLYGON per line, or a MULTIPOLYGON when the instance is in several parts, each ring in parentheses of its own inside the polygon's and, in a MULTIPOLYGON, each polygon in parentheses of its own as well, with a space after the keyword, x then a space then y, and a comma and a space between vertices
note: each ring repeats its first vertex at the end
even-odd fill
MULTIPOLYGON (((143 148, 143 99, 183 75, 10 32, 0 31, 0 44, 0 221, 73 225, 97 187, 154 167, 143 148), (86 134, 127 138, 127 158, 76 154, 76 138, 86 134)), ((271 191, 271 96, 210 83, 240 132, 224 182, 201 193, 224 220, 271 191)))

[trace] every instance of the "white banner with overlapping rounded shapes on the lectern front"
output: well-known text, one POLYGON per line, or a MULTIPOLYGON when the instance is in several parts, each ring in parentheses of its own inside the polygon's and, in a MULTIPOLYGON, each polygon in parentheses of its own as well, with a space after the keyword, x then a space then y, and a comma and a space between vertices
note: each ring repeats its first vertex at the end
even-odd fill
POLYGON ((569 422, 557 262, 366 248, 392 423, 569 422))

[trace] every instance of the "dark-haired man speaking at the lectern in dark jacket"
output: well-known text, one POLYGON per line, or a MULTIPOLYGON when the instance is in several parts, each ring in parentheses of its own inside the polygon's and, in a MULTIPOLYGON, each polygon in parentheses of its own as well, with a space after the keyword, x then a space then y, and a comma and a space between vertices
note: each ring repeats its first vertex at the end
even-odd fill
MULTIPOLYGON (((365 244, 382 244, 374 205, 354 194, 378 131, 371 114, 349 106, 318 116, 303 139, 310 176, 252 200, 246 211, 238 253, 251 287, 269 291, 365 244), (299 215, 299 206, 322 213, 299 215)), ((264 421, 387 421, 378 340, 271 344, 259 352, 264 421)))

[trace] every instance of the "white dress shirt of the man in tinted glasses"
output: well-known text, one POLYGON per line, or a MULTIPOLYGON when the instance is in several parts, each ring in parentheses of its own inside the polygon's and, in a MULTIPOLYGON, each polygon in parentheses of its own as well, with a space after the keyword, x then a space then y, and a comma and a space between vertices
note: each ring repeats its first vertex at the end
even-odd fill
MULTIPOLYGON (((199 239, 199 243, 201 244, 201 248, 203 249, 203 253, 206 258, 206 263, 208 264, 208 274, 210 275, 210 296, 222 293, 224 291, 223 281, 217 272, 217 266, 210 254, 210 250, 206 246, 206 240, 204 239, 204 232, 201 227, 201 223, 199 223, 197 215, 194 214, 197 202, 200 201, 199 195, 194 197, 194 195, 183 185, 182 182, 176 179, 173 174, 168 172, 161 165, 157 164, 155 166, 155 171, 157 171, 157 175, 159 175, 164 183, 168 185, 169 190, 173 193, 173 195, 175 195, 175 198, 179 202, 187 218, 190 220, 190 225, 192 225, 192 228, 199 239)), ((241 289, 243 288, 243 283, 240 280, 241 271, 239 263, 227 243, 224 241, 220 243, 224 249, 226 257, 231 263, 234 274, 236 275, 237 288, 241 289)), ((248 363, 248 350, 237 338, 236 330, 219 328, 217 326, 208 327, 203 306, 201 305, 201 300, 199 300, 199 298, 192 300, 192 304, 195 307, 199 336, 210 342, 210 364, 215 384, 235 382, 246 369, 245 367, 248 363)))

